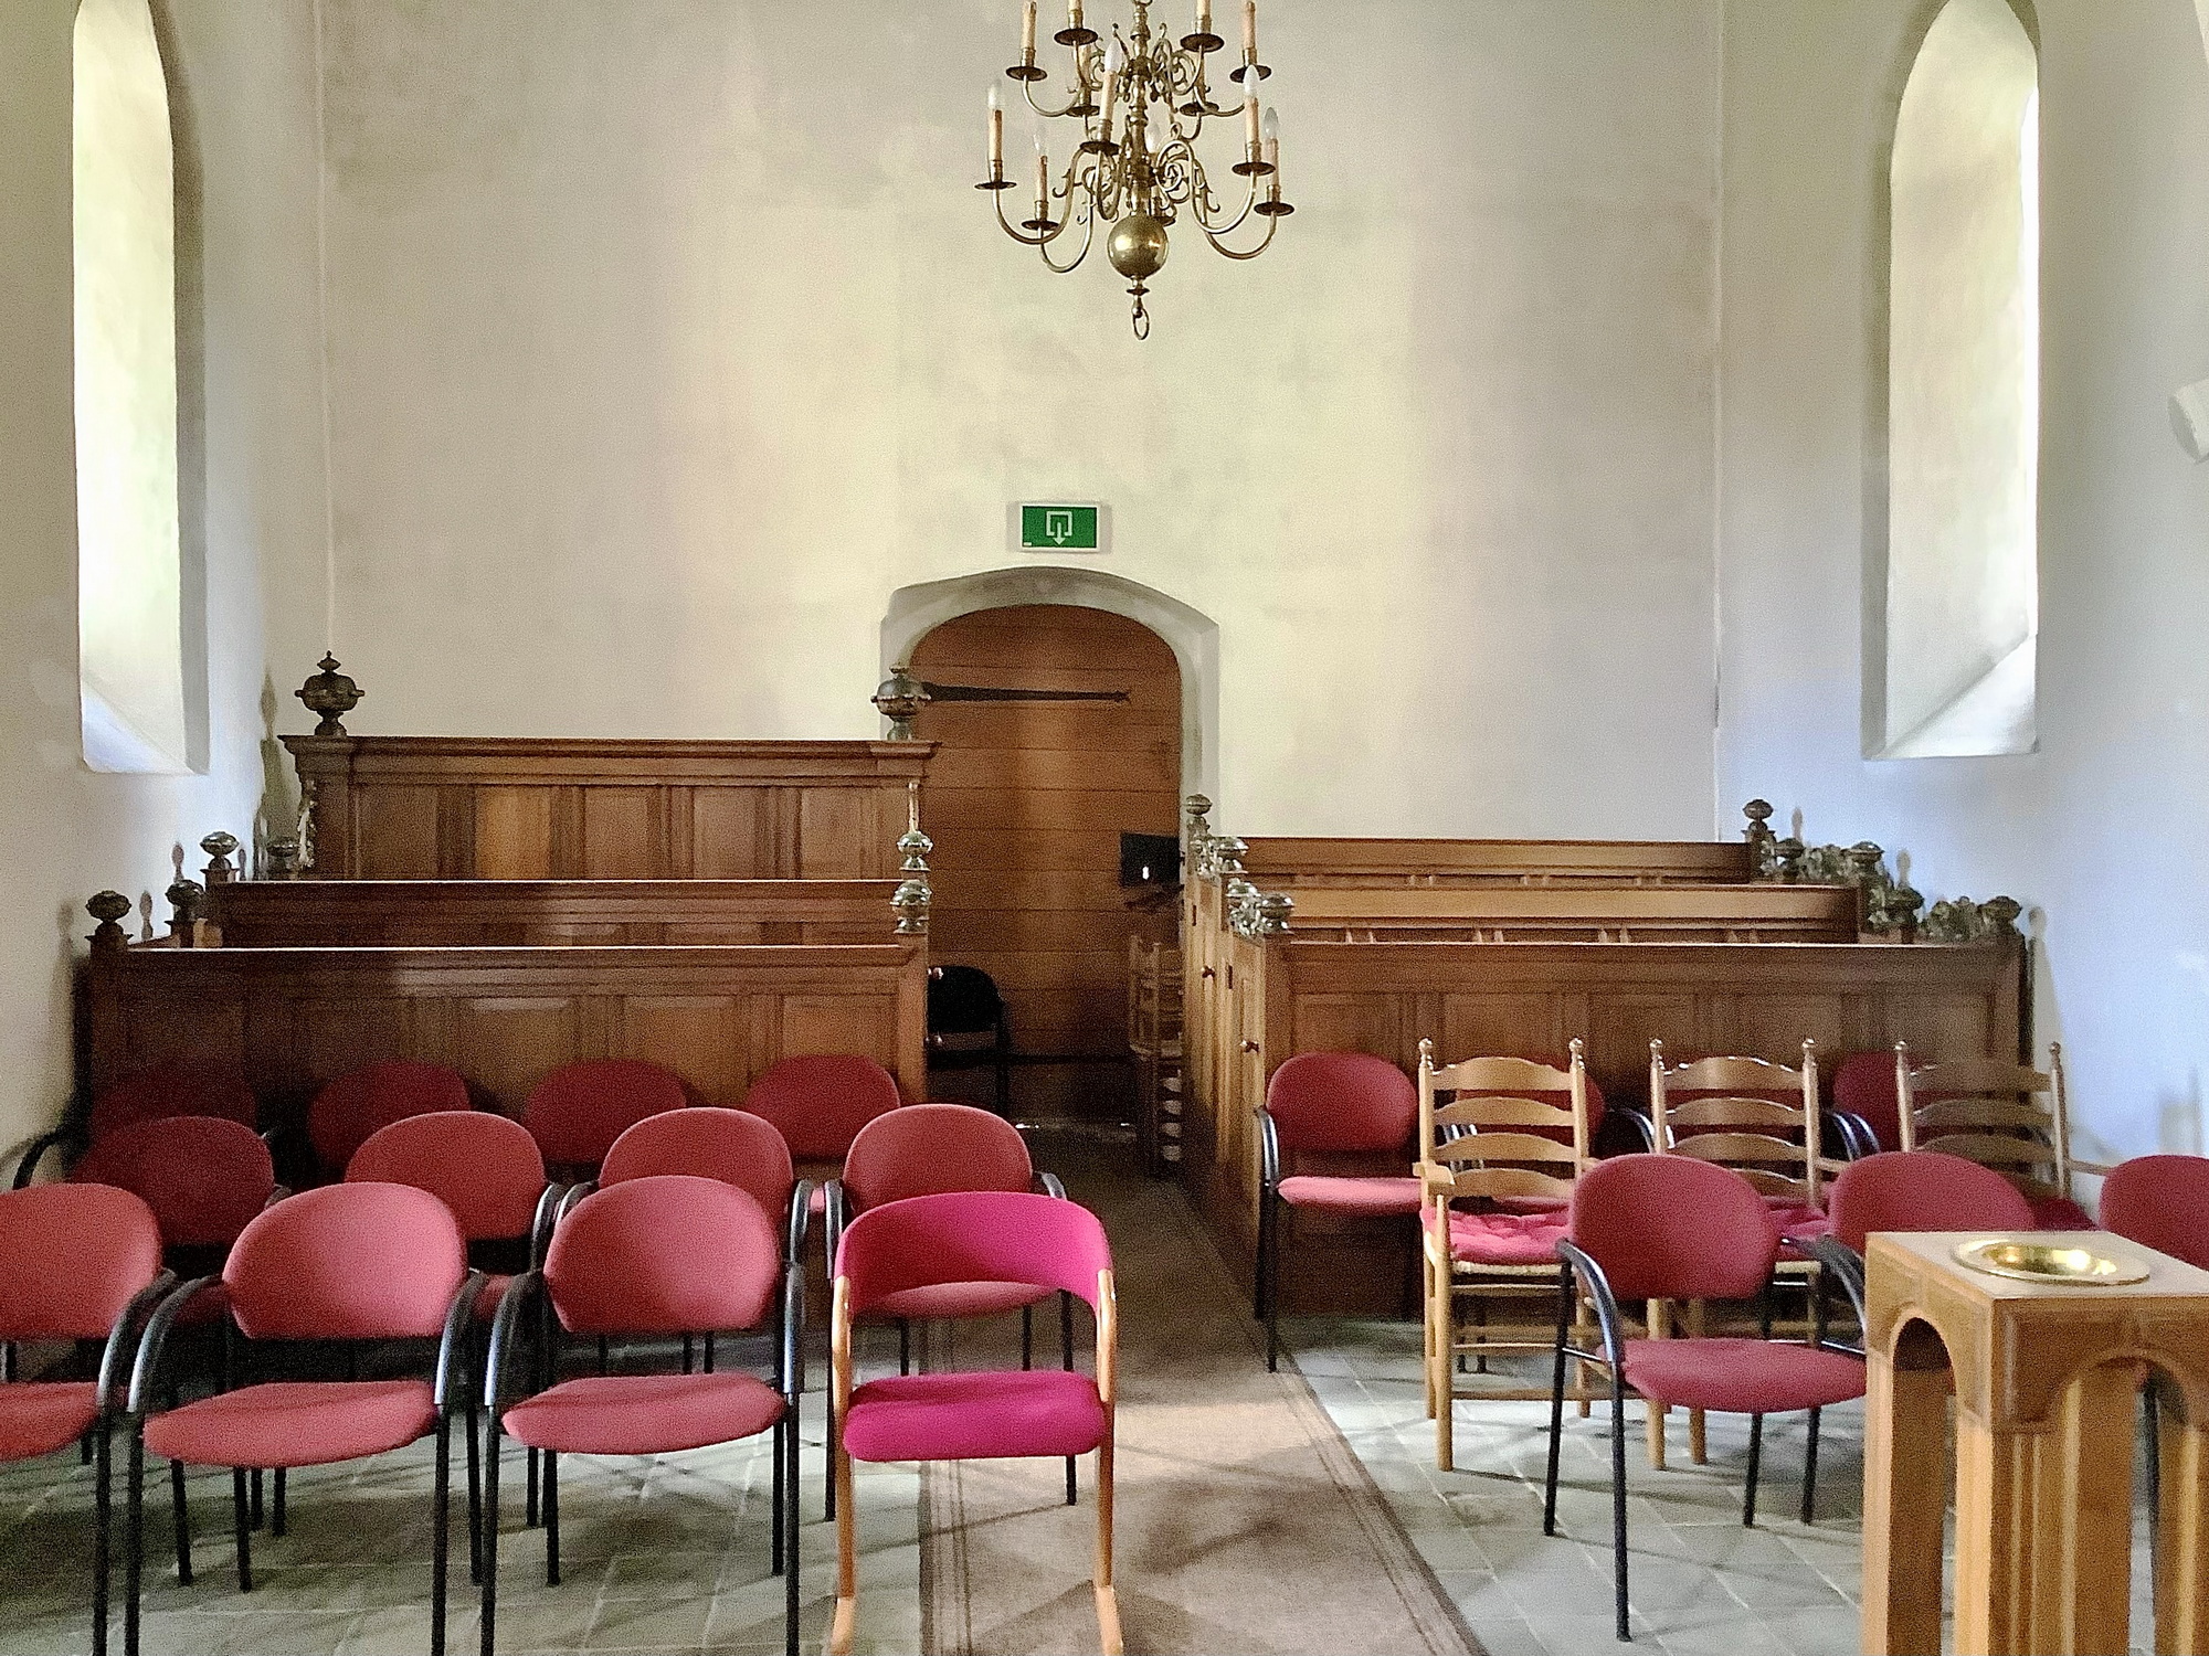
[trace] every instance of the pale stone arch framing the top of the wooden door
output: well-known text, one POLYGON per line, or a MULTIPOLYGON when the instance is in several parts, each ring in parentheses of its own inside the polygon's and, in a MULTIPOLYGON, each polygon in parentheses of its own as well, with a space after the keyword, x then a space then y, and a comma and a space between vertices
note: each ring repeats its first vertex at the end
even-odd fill
POLYGON ((1219 625, 1155 587, 1102 570, 1023 563, 950 581, 921 581, 890 594, 881 618, 881 676, 910 660, 921 638, 976 609, 1016 605, 1107 609, 1166 640, 1182 667, 1182 795, 1219 790, 1219 625))

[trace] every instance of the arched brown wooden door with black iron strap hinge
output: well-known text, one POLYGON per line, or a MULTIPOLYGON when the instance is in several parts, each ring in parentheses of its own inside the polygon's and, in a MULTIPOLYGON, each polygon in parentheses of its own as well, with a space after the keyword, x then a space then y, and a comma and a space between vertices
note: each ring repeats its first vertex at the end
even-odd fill
MULTIPOLYGON (((1104 609, 1018 605, 948 620, 912 676, 1001 689, 1109 689, 1127 702, 932 702, 926 828, 937 841, 930 954, 996 978, 1012 1011, 1021 1119, 1124 1119, 1127 941, 1171 938, 1171 903, 1131 907, 1120 835, 1180 824, 1182 673, 1166 643, 1104 609), (1047 1062, 1036 1062, 1047 1060, 1047 1062)), ((1155 888, 1149 888, 1155 892, 1155 888)), ((990 1095, 987 1071, 934 1078, 990 1095)))

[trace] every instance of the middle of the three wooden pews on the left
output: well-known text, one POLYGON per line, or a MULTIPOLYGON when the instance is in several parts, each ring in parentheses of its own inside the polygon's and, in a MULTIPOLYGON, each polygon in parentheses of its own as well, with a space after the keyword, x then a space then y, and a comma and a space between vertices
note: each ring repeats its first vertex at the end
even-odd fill
POLYGON ((232 881, 223 947, 886 943, 888 879, 232 881))

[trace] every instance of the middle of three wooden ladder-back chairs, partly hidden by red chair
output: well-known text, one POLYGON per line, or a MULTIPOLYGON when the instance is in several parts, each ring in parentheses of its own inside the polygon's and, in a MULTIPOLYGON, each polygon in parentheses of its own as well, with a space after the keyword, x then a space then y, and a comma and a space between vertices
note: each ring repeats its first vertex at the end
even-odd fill
MULTIPOLYGON (((1831 1230, 1825 1217, 1827 1164, 1818 1104, 1818 1042, 1803 1042, 1798 1066, 1769 1058, 1697 1058, 1666 1064, 1663 1042, 1650 1042, 1650 1122, 1659 1155, 1685 1155, 1727 1168, 1763 1199, 1780 1243, 1776 1272, 1805 1287, 1816 1283, 1809 1245, 1831 1230)), ((1685 1307, 1688 1338, 1703 1336, 1703 1303, 1685 1307)), ((1652 1340, 1674 1336, 1672 1305, 1650 1301, 1652 1340)), ((1663 1466, 1666 1409, 1650 1404, 1650 1466, 1663 1466)), ((1703 1411, 1688 1413, 1688 1459, 1705 1459, 1703 1411)))

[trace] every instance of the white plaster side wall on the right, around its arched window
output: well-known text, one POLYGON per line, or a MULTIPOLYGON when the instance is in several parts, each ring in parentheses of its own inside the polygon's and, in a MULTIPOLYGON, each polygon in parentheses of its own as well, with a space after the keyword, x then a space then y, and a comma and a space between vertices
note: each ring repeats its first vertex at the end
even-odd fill
POLYGON ((1875 179, 1928 13, 1725 11, 1719 797, 1900 848, 1928 894, 2039 907, 2081 1155, 2200 1150, 2209 468, 2165 400, 2209 371, 2209 68, 2187 0, 2041 9, 2041 749, 1864 762, 1875 179))

